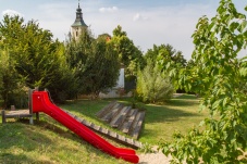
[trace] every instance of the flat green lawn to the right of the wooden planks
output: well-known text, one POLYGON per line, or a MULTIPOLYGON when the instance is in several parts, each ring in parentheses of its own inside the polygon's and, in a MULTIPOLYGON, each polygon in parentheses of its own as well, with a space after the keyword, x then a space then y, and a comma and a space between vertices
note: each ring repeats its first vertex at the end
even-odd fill
POLYGON ((160 140, 172 141, 174 131, 186 134, 208 116, 208 112, 199 112, 198 106, 199 99, 195 96, 182 96, 164 105, 145 105, 145 127, 139 140, 157 144, 160 140))

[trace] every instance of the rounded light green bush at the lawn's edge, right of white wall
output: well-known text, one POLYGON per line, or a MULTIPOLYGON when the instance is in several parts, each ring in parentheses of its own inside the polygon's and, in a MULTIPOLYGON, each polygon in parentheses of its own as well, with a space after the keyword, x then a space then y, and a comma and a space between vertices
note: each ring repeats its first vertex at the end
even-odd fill
POLYGON ((137 77, 137 94, 144 102, 159 102, 172 98, 173 86, 158 66, 148 61, 147 66, 139 71, 137 77))

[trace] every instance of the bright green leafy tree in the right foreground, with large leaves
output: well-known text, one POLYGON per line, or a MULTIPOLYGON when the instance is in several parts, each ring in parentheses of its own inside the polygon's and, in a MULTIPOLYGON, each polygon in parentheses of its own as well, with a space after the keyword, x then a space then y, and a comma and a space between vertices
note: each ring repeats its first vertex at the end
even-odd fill
POLYGON ((237 59, 247 46, 246 22, 231 0, 221 0, 211 21, 206 16, 198 21, 192 64, 186 68, 166 66, 177 86, 203 94, 201 108, 210 111, 210 117, 201 122, 205 130, 175 134, 173 143, 160 147, 164 154, 172 154, 173 163, 247 162, 247 97, 243 89, 247 61, 237 59))

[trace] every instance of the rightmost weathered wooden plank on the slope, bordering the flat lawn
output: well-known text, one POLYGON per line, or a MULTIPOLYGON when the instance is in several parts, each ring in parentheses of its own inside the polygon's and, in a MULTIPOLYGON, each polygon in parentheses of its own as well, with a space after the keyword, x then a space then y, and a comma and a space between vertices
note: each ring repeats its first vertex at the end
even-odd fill
POLYGON ((139 137, 144 118, 145 118, 145 112, 139 112, 137 114, 137 119, 135 121, 135 124, 133 125, 133 130, 131 133, 131 136, 135 139, 139 137))

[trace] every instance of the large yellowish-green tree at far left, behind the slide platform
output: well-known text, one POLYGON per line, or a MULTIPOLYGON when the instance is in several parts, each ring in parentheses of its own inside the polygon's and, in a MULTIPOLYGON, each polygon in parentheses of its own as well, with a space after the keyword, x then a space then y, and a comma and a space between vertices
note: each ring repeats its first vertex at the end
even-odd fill
MULTIPOLYGON (((35 21, 25 24, 18 16, 5 15, 0 23, 0 47, 8 52, 9 63, 12 64, 5 66, 12 67, 16 73, 8 74, 11 81, 7 84, 18 84, 20 89, 23 84, 29 88, 39 86, 48 88, 52 94, 67 94, 73 86, 73 72, 66 66, 63 43, 53 41, 49 30, 40 28, 35 21), (23 83, 21 87, 20 83, 23 83)), ((3 88, 7 89, 8 86, 3 88)), ((54 99, 61 101, 59 97, 54 99)))

